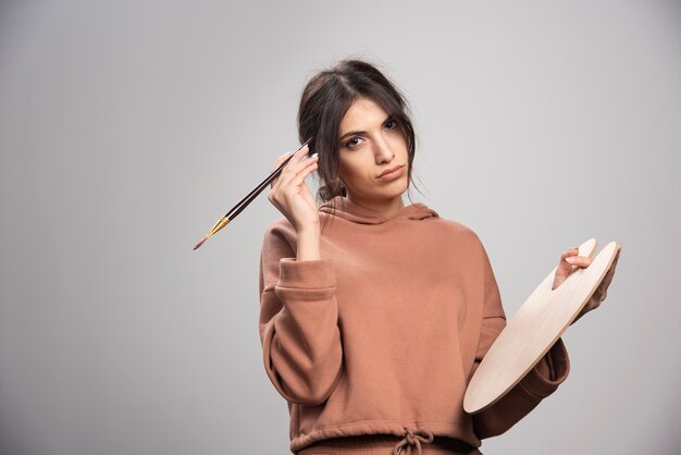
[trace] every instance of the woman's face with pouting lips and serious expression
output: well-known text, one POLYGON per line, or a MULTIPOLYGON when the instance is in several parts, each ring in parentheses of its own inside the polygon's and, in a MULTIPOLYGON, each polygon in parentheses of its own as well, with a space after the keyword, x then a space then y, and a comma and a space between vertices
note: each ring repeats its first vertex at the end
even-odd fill
POLYGON ((348 197, 366 207, 401 201, 409 185, 409 155, 396 120, 373 100, 358 98, 343 118, 338 137, 338 174, 348 197), (380 177, 395 168, 400 169, 380 177))

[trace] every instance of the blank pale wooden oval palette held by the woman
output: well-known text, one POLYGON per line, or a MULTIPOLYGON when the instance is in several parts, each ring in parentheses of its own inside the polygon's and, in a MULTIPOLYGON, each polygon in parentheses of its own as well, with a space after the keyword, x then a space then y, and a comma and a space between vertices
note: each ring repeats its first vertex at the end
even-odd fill
MULTIPOLYGON (((558 266, 542 281, 508 321, 473 374, 463 409, 480 413, 510 391, 556 343, 586 305, 610 269, 617 242, 607 244, 586 268, 572 272, 552 291, 558 266)), ((593 257, 596 239, 579 247, 579 256, 593 257)), ((577 269, 577 270, 574 270, 577 269)))

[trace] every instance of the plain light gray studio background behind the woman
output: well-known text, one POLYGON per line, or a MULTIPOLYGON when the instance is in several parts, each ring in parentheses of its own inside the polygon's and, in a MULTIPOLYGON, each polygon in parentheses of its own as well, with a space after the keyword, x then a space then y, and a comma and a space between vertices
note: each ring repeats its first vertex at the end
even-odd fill
POLYGON ((0 452, 288 453, 258 337, 280 213, 191 247, 358 56, 412 106, 413 200, 478 232, 509 316, 564 249, 623 245, 567 382, 483 452, 678 453, 680 3, 244 3, 0 7, 0 452))

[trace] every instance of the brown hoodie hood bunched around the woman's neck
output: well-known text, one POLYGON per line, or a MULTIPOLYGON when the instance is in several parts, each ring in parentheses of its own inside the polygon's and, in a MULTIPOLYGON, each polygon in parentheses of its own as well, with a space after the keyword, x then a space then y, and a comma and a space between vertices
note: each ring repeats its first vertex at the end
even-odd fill
POLYGON ((345 196, 336 196, 322 204, 320 212, 330 217, 343 218, 358 224, 382 224, 392 220, 425 220, 429 218, 439 218, 437 212, 424 204, 416 202, 405 206, 399 213, 394 217, 386 217, 383 213, 358 206, 345 196))

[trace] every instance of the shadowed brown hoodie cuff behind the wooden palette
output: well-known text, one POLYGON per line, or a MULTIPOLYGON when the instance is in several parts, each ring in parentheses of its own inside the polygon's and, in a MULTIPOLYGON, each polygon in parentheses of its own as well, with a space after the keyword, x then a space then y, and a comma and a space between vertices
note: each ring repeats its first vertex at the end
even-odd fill
POLYGON ((568 349, 566 349, 562 339, 558 339, 520 383, 532 395, 545 398, 558 389, 558 385, 568 378, 569 372, 568 349))

